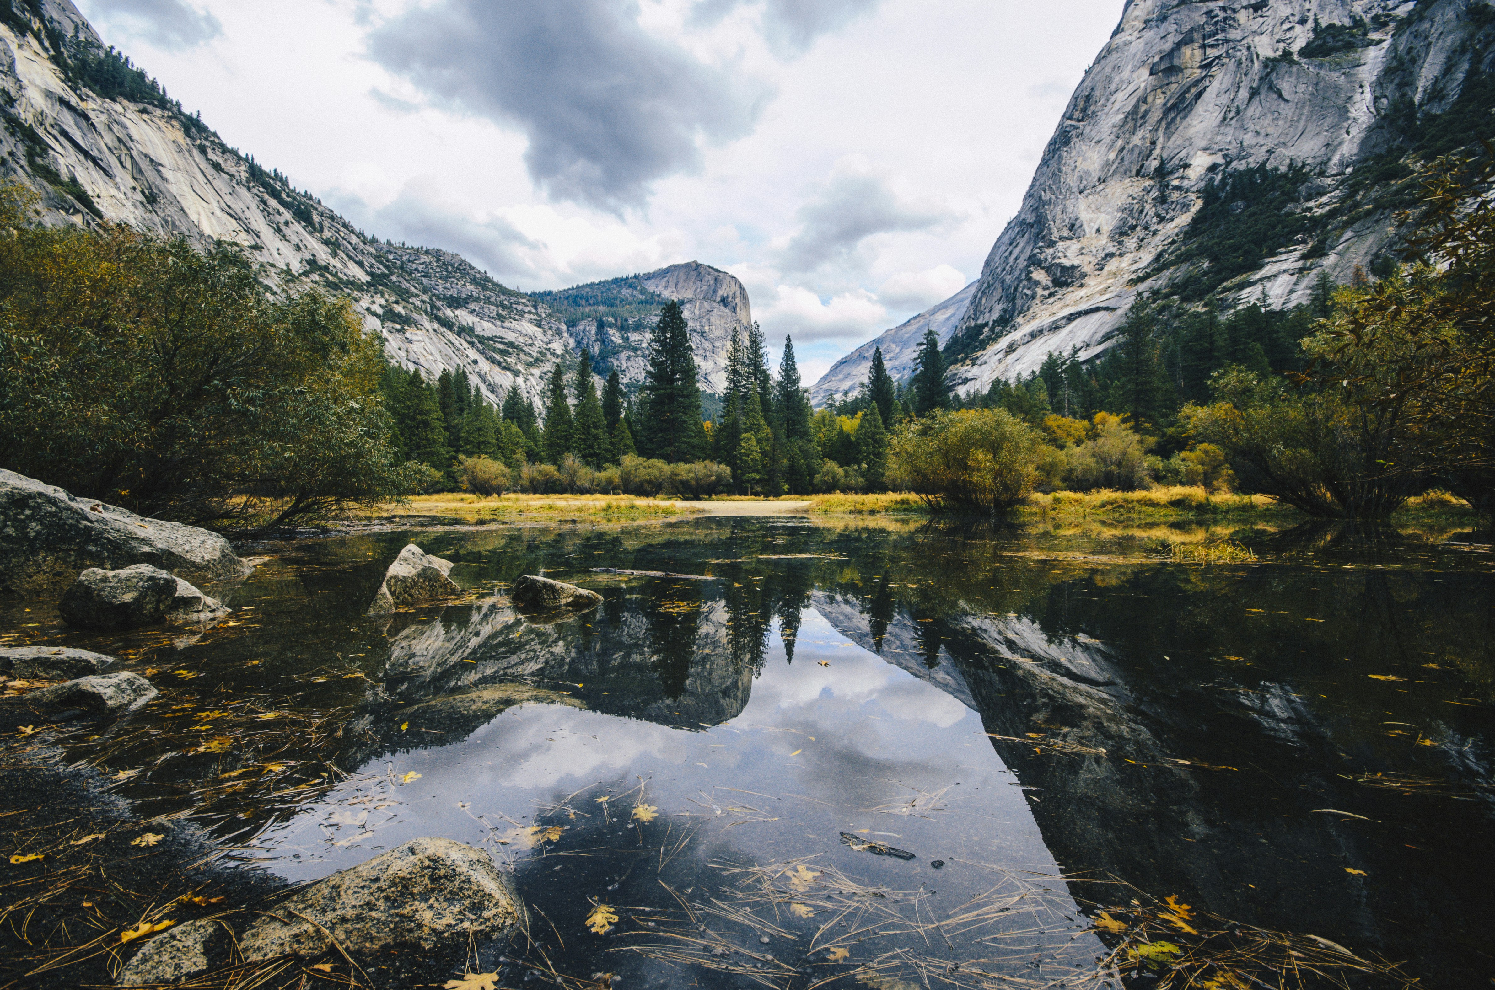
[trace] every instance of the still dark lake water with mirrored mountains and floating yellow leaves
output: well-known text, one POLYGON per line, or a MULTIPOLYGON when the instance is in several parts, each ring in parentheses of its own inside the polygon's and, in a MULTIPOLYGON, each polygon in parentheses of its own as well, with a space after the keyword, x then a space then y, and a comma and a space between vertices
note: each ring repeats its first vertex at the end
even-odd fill
POLYGON ((290 879, 416 836, 489 848, 532 908, 492 966, 1046 981, 1105 951, 1076 909, 1120 879, 1488 980, 1488 555, 1115 549, 774 519, 375 534, 272 547, 227 595, 239 625, 196 640, 6 618, 154 671, 147 712, 70 743, 147 814, 290 879), (471 600, 363 618, 410 535, 471 600), (540 570, 604 604, 550 622, 495 595, 540 570))

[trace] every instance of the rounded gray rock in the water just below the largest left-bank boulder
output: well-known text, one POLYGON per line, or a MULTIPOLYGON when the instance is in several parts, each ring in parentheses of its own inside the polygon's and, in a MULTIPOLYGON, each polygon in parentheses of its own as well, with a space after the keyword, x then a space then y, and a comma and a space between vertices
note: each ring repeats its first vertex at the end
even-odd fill
POLYGON ((69 625, 102 631, 133 630, 166 619, 211 622, 229 613, 217 598, 150 564, 117 571, 90 567, 63 594, 57 610, 69 625))

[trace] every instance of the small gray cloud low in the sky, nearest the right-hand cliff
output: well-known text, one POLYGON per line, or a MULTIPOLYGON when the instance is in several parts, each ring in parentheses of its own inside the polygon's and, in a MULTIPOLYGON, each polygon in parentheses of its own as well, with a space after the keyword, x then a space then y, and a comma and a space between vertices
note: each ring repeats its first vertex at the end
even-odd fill
POLYGON ((842 172, 831 176, 819 194, 800 206, 800 230, 780 251, 780 266, 789 272, 810 272, 828 262, 851 257, 875 233, 927 230, 946 214, 898 197, 878 175, 842 172))

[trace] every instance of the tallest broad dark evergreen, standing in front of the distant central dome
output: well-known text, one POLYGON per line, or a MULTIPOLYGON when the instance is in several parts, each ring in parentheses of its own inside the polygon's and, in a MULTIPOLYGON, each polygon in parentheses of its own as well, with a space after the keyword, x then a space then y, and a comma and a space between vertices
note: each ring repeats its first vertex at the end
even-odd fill
POLYGON ((701 389, 695 381, 691 332, 679 302, 667 302, 649 336, 640 410, 643 452, 662 461, 700 461, 706 446, 701 389))

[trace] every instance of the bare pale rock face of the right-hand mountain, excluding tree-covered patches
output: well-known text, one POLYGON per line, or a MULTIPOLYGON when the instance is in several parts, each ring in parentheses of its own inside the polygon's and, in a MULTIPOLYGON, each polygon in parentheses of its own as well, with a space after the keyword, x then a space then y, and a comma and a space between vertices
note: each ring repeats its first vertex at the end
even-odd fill
MULTIPOLYGON (((1298 209, 1334 208, 1356 163, 1390 147, 1398 103, 1440 112, 1495 61, 1485 18, 1471 13, 1482 4, 1130 0, 987 257, 957 328, 964 359, 952 381, 970 392, 1035 371, 1049 351, 1103 351, 1138 292, 1178 274, 1159 262, 1187 248, 1203 190, 1221 175, 1302 166, 1311 178, 1298 209), (1290 57, 1316 22, 1357 19, 1365 46, 1290 57)), ((1224 293, 1236 305, 1307 302, 1319 272, 1344 281, 1392 236, 1386 214, 1341 224, 1325 256, 1289 245, 1224 293)))

